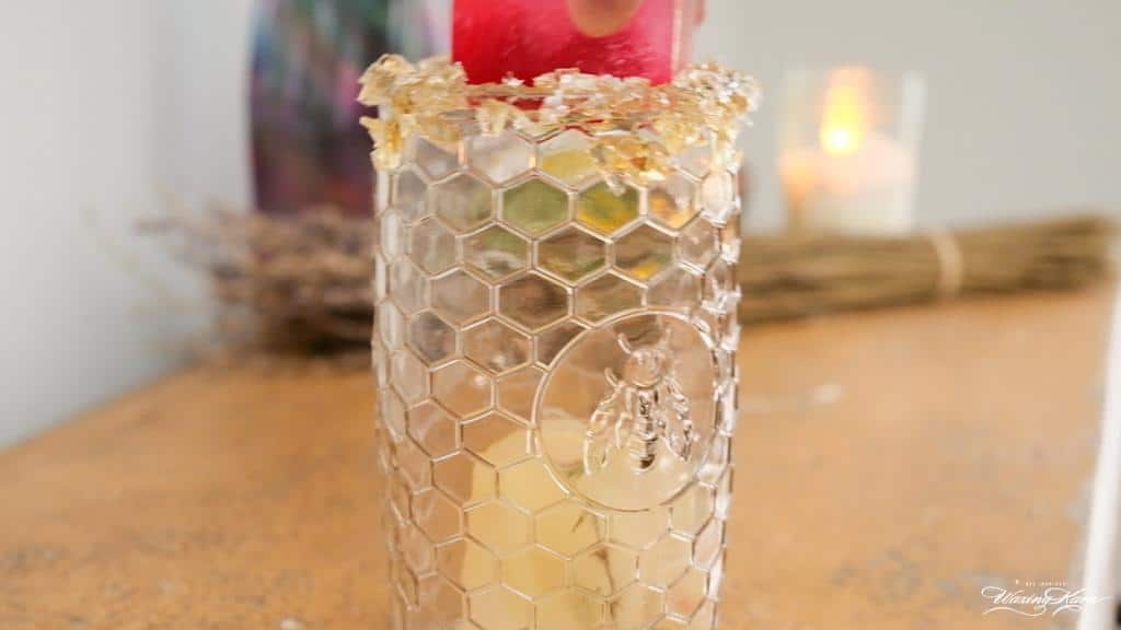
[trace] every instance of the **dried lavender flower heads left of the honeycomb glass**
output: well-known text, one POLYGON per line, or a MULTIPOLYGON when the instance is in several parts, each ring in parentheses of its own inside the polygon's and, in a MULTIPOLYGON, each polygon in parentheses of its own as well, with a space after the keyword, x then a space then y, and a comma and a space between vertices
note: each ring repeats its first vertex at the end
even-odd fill
POLYGON ((174 238, 176 253, 210 278, 219 309, 209 345, 368 362, 369 219, 331 207, 290 216, 215 207, 172 211, 142 228, 174 238))

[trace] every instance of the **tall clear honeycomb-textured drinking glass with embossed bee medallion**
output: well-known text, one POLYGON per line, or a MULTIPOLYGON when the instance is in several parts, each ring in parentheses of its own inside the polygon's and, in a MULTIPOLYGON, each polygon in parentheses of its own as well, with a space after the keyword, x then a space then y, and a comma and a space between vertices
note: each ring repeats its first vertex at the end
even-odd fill
POLYGON ((735 154, 703 121, 651 143, 657 99, 573 115, 601 90, 585 78, 494 87, 428 127, 395 120, 418 98, 398 92, 368 122, 392 151, 373 346, 395 628, 715 623, 735 154))

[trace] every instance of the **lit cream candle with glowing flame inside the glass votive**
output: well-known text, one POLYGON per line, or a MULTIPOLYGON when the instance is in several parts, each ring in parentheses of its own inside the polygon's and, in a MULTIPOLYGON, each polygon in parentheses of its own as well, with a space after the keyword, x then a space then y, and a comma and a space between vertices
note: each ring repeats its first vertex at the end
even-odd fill
POLYGON ((790 225, 804 232, 891 234, 914 223, 915 156, 877 124, 868 71, 830 76, 816 142, 780 159, 790 225))

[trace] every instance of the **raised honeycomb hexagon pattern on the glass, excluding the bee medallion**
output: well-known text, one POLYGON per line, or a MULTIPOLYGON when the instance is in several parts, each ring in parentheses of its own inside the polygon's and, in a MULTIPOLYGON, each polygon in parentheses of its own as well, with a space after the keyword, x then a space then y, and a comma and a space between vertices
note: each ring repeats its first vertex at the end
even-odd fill
POLYGON ((735 424, 739 195, 707 148, 676 164, 663 182, 617 191, 580 129, 536 146, 513 131, 409 139, 374 254, 395 628, 712 628, 735 424), (722 433, 696 483, 615 511, 558 481, 532 405, 574 339, 641 308, 713 337, 722 433))

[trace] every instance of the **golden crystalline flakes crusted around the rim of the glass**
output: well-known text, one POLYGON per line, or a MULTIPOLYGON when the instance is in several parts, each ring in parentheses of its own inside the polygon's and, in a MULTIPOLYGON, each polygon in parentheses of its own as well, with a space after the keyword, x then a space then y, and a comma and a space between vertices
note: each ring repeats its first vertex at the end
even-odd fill
MULTIPOLYGON (((646 6, 664 1, 669 0, 647 0, 646 6)), ((601 56, 617 58, 615 50, 612 53, 601 56)), ((363 117, 360 121, 374 141, 374 165, 379 169, 399 168, 401 154, 416 135, 445 145, 463 140, 464 130, 471 128, 463 124, 466 119, 473 119, 485 136, 501 136, 511 129, 535 138, 562 129, 591 133, 584 155, 593 158, 594 170, 602 174, 612 191, 627 182, 649 186, 664 180, 678 168, 674 156, 689 147, 707 143, 713 169, 733 168, 739 163, 735 139, 743 120, 754 111, 759 93, 747 75, 713 63, 696 64, 659 84, 630 73, 612 76, 589 70, 581 73, 574 67, 580 65, 548 65, 531 81, 500 76, 494 82, 471 84, 461 65, 446 58, 414 64, 399 55, 383 55, 360 80, 359 101, 381 108, 382 118, 363 117), (633 127, 637 120, 642 121, 639 128, 633 127), (597 131, 606 129, 617 132, 597 131)), ((562 137, 563 132, 556 136, 562 137)), ((515 148, 519 154, 525 147, 515 148)), ((550 161, 548 154, 541 154, 539 166, 568 185, 575 185, 589 170, 582 158, 569 164, 565 154, 563 160, 550 161), (581 161, 585 164, 581 166, 581 161)), ((522 155, 510 161, 509 168, 495 163, 502 166, 495 176, 504 180, 528 166, 530 159, 528 154, 522 155)), ((414 193, 424 184, 415 175, 405 180, 414 185, 414 193)), ((411 223, 420 219, 413 213, 423 211, 423 206, 414 205, 402 214, 411 223)))

